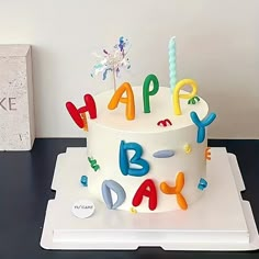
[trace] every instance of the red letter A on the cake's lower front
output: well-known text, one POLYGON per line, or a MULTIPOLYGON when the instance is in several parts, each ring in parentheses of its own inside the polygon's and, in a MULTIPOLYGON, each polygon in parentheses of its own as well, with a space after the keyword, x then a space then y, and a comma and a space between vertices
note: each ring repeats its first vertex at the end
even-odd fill
POLYGON ((138 188, 132 201, 133 206, 138 206, 142 203, 143 196, 149 198, 148 207, 150 211, 154 211, 157 207, 157 190, 151 179, 145 180, 138 188))

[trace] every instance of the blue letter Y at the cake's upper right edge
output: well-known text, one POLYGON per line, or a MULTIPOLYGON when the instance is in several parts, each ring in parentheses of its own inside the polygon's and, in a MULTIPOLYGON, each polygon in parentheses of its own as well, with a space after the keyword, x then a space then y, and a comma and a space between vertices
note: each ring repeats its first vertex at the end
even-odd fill
POLYGON ((195 112, 191 112, 190 115, 191 115, 192 122, 198 126, 196 142, 203 143, 205 138, 205 127, 212 124, 212 122, 216 119, 216 114, 212 112, 202 121, 200 121, 195 112))

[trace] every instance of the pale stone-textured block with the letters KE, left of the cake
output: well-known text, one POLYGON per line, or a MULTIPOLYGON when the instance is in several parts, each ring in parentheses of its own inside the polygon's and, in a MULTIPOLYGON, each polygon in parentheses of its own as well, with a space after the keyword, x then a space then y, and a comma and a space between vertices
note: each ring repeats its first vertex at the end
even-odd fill
POLYGON ((0 45, 0 150, 31 150, 35 139, 30 45, 0 45))

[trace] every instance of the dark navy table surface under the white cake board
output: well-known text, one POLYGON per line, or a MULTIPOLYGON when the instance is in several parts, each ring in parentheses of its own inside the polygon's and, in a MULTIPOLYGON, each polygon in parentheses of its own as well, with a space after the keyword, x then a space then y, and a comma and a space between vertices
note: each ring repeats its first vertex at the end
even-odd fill
MULTIPOLYGON (((47 201, 58 154, 86 146, 86 139, 36 139, 32 151, 0 153, 0 259, 41 258, 259 258, 259 251, 164 251, 143 247, 136 251, 49 251, 40 247, 47 201)), ((243 198, 251 204, 259 226, 259 140, 209 140, 237 156, 246 184, 243 198)))

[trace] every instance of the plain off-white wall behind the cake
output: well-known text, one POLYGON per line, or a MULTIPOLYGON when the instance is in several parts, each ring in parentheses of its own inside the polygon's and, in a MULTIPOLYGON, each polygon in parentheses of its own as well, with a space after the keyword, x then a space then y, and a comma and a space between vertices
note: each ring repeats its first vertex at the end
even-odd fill
POLYGON ((177 36, 178 78, 193 78, 218 115, 214 138, 259 138, 259 1, 0 0, 0 44, 33 45, 37 137, 77 137, 65 103, 111 88, 92 79, 92 52, 130 38, 142 83, 168 85, 168 41, 177 36))

